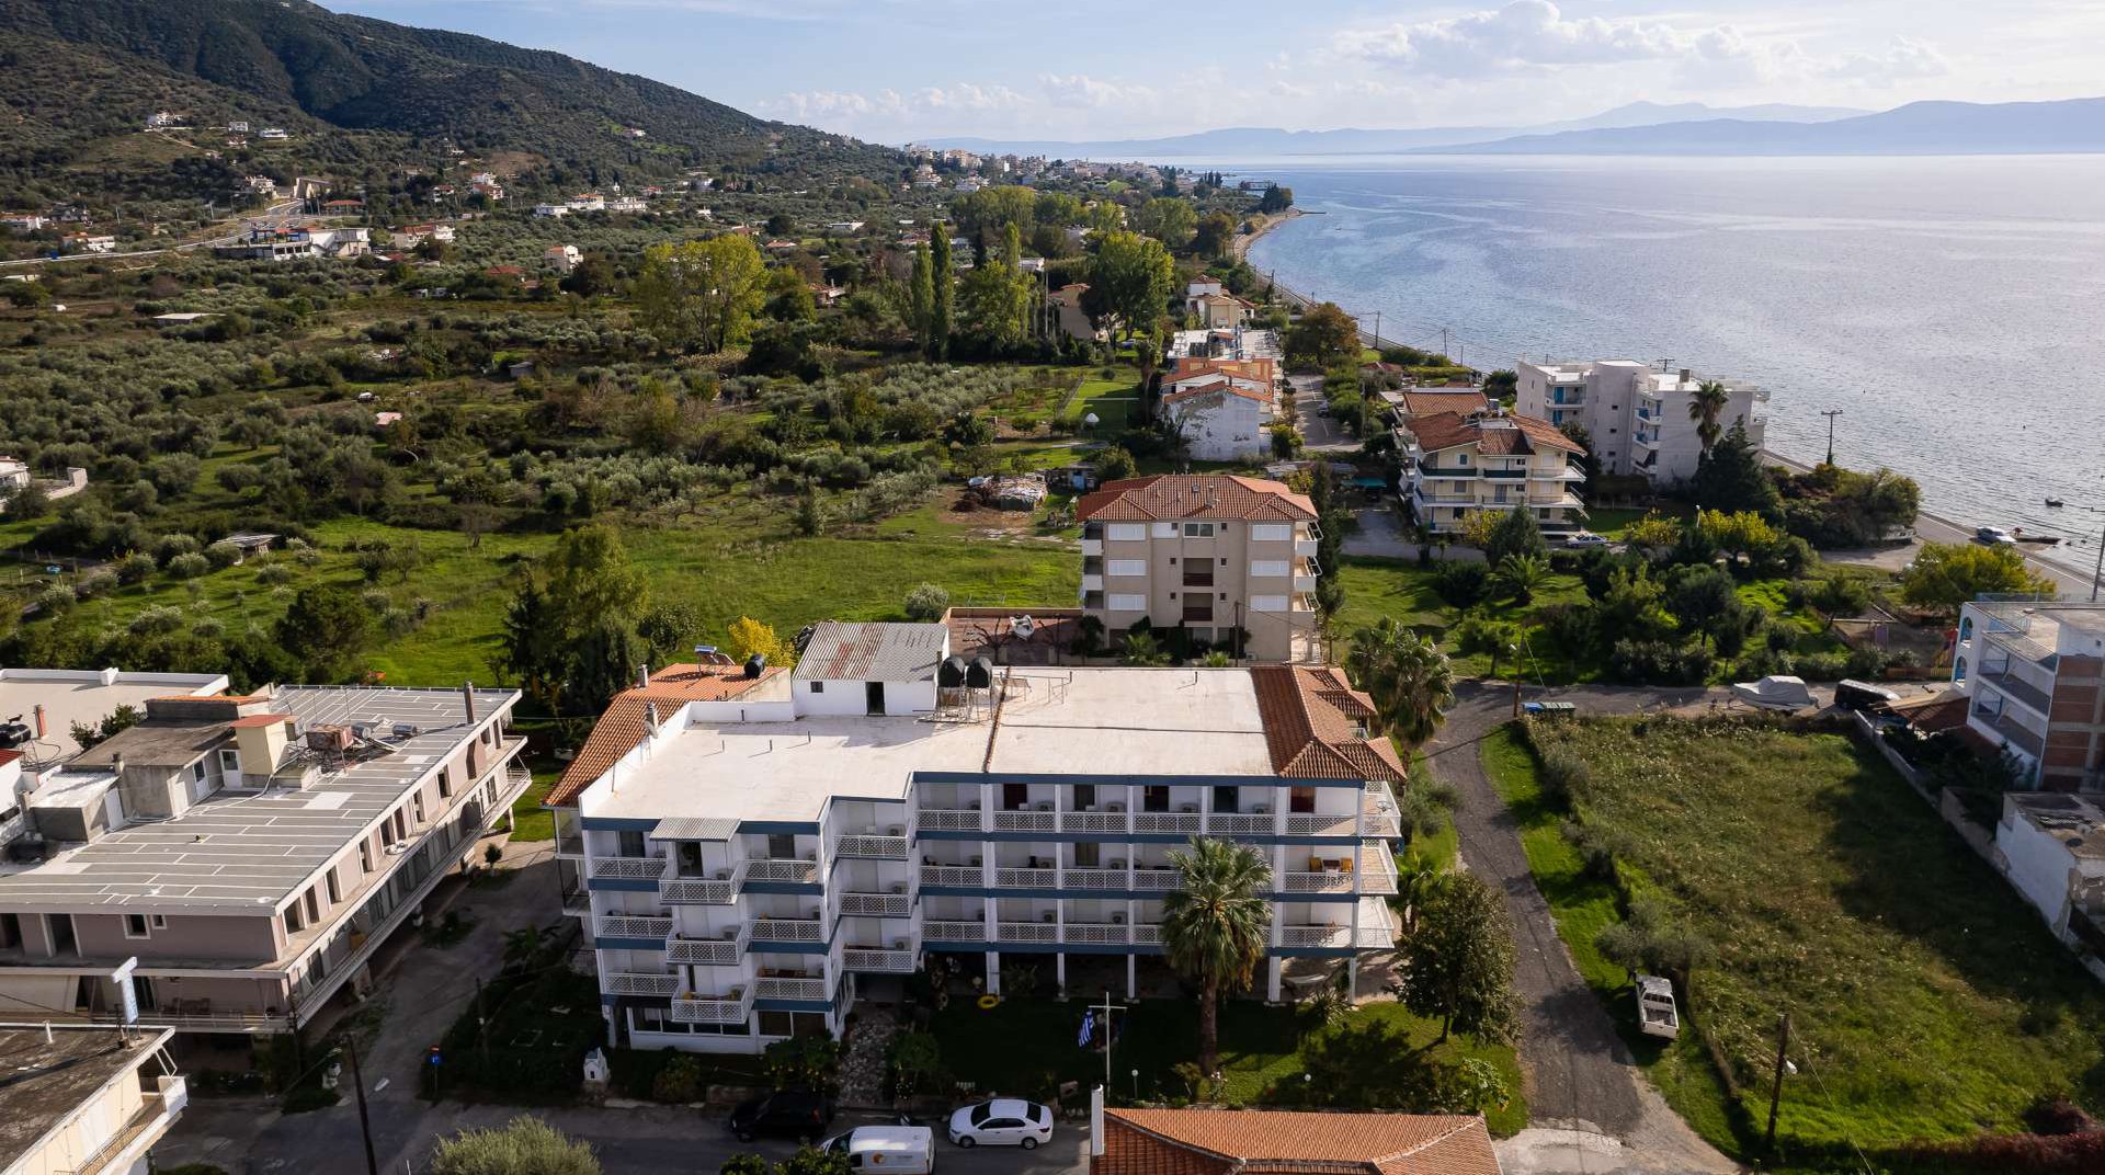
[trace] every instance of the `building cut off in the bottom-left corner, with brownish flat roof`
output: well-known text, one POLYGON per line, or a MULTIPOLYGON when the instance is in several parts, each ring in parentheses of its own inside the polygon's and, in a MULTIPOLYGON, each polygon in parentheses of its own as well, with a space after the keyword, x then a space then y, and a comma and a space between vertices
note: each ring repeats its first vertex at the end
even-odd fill
POLYGON ((166 1028, 0 1023, 0 1171, 147 1175, 189 1103, 166 1028))

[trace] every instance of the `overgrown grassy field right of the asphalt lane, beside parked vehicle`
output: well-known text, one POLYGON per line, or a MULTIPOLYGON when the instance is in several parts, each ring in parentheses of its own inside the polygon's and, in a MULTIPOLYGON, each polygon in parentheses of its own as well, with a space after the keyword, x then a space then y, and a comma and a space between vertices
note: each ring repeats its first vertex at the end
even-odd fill
MULTIPOLYGON (((1621 834, 1638 884, 1657 884, 1711 943, 1690 1015, 1739 1106, 1692 1036, 1638 1044, 1699 1133, 1747 1152, 1783 1011, 1800 1070, 1783 1087, 1785 1160, 2019 1129, 2046 1091, 2105 1103, 2105 992, 1873 754, 1842 735, 1737 724, 1638 731, 1583 720, 1543 739, 1589 764, 1587 821, 1621 834)), ((1627 981, 1593 948, 1617 893, 1564 842, 1526 748, 1499 733, 1484 762, 1581 975, 1629 1028, 1627 981)))

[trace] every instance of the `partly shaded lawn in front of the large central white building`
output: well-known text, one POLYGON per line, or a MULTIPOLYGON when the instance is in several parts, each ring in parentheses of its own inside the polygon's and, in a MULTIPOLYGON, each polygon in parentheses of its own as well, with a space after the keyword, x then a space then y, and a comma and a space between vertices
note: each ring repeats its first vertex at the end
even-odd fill
MULTIPOLYGON (((1084 1000, 1002 1000, 981 1009, 973 1000, 951 1000, 937 1013, 933 1030, 943 1044, 943 1066, 958 1080, 977 1082, 981 1091, 1031 1093, 1050 1076, 1095 1084, 1103 1080, 1103 1055, 1076 1047, 1084 1000)), ((1402 1051, 1425 1051, 1425 1057, 1488 1061, 1505 1078, 1513 1099, 1486 1114, 1490 1131, 1511 1135, 1526 1127, 1528 1108, 1520 1097, 1520 1066, 1511 1049, 1480 1047, 1459 1036, 1434 1044, 1440 1025, 1404 1011, 1400 1004, 1364 1004, 1339 1028, 1316 1028, 1295 1009, 1265 1007, 1257 1000, 1221 1002, 1221 1072, 1223 1099, 1234 1103, 1267 1103, 1299 1099, 1305 1053, 1347 1040, 1377 1040, 1402 1063, 1402 1051)), ((1111 1055, 1118 1097, 1132 1093, 1130 1070, 1141 1070, 1141 1097, 1189 1097, 1172 1074, 1179 1061, 1194 1057, 1198 1040, 1198 1004, 1191 1000, 1145 1000, 1126 1013, 1122 1036, 1111 1055)))

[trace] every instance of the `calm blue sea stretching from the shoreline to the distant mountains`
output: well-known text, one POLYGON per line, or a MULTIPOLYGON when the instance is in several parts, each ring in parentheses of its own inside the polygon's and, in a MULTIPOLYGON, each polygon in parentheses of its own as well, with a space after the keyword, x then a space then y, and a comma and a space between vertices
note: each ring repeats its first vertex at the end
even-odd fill
MULTIPOLYGON (((1768 444, 1962 522, 2105 518, 2105 156, 1242 160, 1303 217, 1250 263, 1480 369, 1671 358, 1770 390, 1768 444)), ((2094 552, 2094 545, 2086 550, 2094 552)), ((2076 554, 2076 552, 2071 552, 2076 554)), ((2088 560, 2086 560, 2088 562, 2088 560)))

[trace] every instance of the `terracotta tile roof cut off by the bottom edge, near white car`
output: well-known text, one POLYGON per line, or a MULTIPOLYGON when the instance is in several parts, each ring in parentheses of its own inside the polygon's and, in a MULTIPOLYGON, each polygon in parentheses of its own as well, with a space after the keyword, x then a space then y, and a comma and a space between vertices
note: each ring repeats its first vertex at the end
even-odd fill
POLYGON ((1090 1175, 1499 1175, 1474 1114, 1105 1110, 1090 1175))

